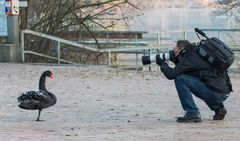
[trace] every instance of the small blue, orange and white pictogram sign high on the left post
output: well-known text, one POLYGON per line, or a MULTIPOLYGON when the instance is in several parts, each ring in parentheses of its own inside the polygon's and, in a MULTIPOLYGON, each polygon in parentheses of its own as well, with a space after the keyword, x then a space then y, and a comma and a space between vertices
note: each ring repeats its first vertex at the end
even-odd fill
POLYGON ((19 15, 19 1, 5 0, 5 13, 7 15, 19 15))

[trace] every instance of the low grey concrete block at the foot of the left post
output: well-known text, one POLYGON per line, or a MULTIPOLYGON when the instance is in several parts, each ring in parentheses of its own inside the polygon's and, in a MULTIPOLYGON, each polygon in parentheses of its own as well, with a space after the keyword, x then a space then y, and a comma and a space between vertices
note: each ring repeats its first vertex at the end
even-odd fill
POLYGON ((0 62, 21 62, 21 49, 17 44, 0 44, 0 62))

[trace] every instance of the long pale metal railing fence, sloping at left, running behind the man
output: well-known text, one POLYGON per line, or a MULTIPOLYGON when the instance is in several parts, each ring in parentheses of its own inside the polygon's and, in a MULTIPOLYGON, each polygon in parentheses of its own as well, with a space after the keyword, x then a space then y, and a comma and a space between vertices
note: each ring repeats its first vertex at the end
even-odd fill
MULTIPOLYGON (((203 29, 203 31, 208 37, 215 36, 221 39, 236 51, 236 58, 239 56, 239 29, 203 29)), ((98 40, 98 44, 96 44, 92 38, 83 38, 82 36, 75 37, 73 41, 70 41, 24 30, 21 36, 23 61, 25 62, 29 58, 33 58, 33 56, 38 56, 40 58, 37 59, 47 58, 47 60, 43 59, 46 61, 45 63, 107 64, 109 66, 139 68, 142 67, 142 55, 167 52, 172 49, 173 42, 178 39, 187 39, 190 42, 200 41, 194 30, 154 33, 145 31, 101 33, 104 33, 106 36, 96 36, 98 40), (117 37, 117 35, 118 38, 113 38, 117 37), (45 41, 46 39, 48 40, 47 42, 45 41), (40 46, 39 44, 43 42, 46 42, 46 44, 40 46), (26 54, 31 56, 26 57, 26 54)))

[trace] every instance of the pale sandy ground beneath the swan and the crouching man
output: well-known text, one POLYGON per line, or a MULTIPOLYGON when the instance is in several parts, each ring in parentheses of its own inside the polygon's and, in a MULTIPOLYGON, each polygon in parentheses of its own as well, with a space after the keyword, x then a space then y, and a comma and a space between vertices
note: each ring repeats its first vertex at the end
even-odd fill
POLYGON ((226 119, 195 98, 203 122, 177 123, 183 115, 173 81, 160 72, 106 66, 44 66, 0 63, 0 141, 239 141, 240 76, 231 74, 234 92, 226 119), (37 111, 18 108, 21 92, 38 90, 39 76, 58 102, 37 111))

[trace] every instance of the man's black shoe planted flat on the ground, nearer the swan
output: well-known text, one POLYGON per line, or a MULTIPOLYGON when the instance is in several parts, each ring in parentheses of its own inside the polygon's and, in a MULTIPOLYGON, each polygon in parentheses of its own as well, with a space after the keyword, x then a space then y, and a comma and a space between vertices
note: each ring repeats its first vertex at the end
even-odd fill
POLYGON ((201 119, 201 115, 199 112, 197 113, 189 113, 187 112, 183 117, 178 117, 177 118, 177 122, 181 122, 181 123, 184 123, 184 122, 201 122, 202 119, 201 119))

